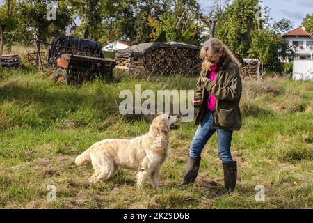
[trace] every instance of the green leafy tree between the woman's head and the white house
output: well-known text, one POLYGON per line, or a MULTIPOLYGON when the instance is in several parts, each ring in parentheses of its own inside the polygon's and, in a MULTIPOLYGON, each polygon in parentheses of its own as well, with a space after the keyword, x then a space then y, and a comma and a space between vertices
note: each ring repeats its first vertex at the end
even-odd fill
POLYGON ((217 36, 241 56, 259 59, 267 71, 282 72, 281 59, 291 59, 292 53, 281 33, 291 29, 291 22, 282 19, 270 24, 266 8, 264 19, 257 20, 258 3, 235 0, 218 25, 217 36))

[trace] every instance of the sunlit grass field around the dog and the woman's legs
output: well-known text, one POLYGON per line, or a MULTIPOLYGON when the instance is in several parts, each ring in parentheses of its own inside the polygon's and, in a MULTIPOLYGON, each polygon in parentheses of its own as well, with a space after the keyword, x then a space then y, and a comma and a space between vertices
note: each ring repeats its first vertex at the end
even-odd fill
POLYGON ((223 188, 216 135, 204 148, 195 186, 178 187, 194 123, 170 133, 159 191, 148 180, 137 191, 136 173, 127 170, 90 185, 91 167, 74 164, 96 141, 147 132, 150 121, 118 114, 120 91, 135 84, 142 91, 194 89, 196 78, 124 75, 119 83, 61 86, 29 68, 0 69, 0 208, 313 208, 312 83, 243 82, 243 128, 232 142, 238 186, 215 197, 223 188), (55 185, 56 201, 47 201, 48 185, 55 185), (265 187, 264 202, 255 201, 257 185, 265 187))

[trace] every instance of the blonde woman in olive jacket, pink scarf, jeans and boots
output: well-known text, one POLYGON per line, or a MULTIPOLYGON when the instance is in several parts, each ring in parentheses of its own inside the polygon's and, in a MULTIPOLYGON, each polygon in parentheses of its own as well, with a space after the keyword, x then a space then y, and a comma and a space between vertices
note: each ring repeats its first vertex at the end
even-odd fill
POLYGON ((232 160, 230 146, 232 132, 241 128, 239 61, 217 38, 207 40, 200 56, 204 62, 193 99, 193 105, 199 107, 195 120, 199 127, 189 149, 182 186, 194 183, 204 145, 217 132, 218 157, 223 163, 225 191, 233 191, 237 164, 232 160))

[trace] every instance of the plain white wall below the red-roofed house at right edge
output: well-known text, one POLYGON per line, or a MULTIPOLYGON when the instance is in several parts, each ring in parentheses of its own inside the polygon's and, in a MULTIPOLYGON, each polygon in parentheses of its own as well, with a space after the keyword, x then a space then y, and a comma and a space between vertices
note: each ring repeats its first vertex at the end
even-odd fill
POLYGON ((313 82, 313 61, 294 61, 292 78, 296 81, 313 82))

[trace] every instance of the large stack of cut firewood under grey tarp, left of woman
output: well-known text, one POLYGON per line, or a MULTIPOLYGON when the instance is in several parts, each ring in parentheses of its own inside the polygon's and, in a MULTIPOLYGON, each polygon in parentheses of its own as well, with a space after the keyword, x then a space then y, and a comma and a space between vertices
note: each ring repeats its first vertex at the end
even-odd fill
MULTIPOLYGON (((150 45, 145 45, 147 49, 150 45)), ((143 54, 131 54, 130 57, 118 56, 116 68, 128 70, 130 74, 153 75, 199 75, 202 66, 200 47, 191 47, 177 43, 162 43, 150 50, 143 49, 143 54)), ((119 54, 118 54, 119 55, 119 54)))

